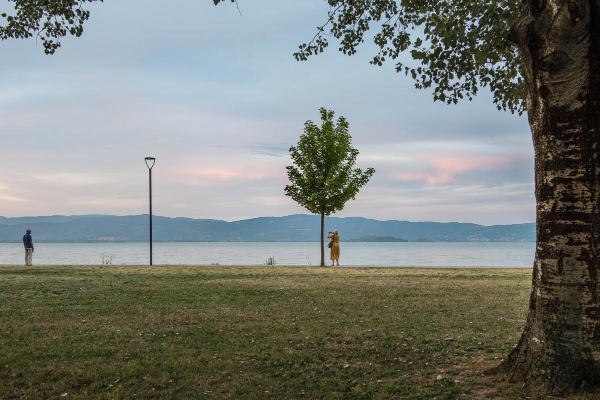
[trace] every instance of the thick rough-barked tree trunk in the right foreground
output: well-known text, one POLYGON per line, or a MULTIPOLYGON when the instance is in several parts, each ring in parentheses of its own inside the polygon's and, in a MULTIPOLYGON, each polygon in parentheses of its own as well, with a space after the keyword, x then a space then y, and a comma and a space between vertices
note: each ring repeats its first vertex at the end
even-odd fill
POLYGON ((600 384, 599 0, 525 0, 511 30, 535 147, 529 316, 500 369, 544 393, 600 384))

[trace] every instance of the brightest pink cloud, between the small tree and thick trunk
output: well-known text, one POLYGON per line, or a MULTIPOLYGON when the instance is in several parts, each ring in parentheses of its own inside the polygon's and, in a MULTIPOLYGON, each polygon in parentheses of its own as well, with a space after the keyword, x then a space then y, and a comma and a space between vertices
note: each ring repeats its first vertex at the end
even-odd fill
POLYGON ((415 154, 419 172, 398 172, 393 174, 398 180, 425 181, 431 186, 456 182, 455 176, 469 171, 491 171, 506 168, 515 162, 508 156, 464 156, 448 154, 415 154))

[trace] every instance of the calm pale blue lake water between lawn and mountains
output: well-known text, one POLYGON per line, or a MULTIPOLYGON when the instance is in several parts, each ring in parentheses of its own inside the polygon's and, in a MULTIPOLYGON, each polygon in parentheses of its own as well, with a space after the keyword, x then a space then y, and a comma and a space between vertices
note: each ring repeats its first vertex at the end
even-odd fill
MULTIPOLYGON (((35 240, 35 238, 34 238, 35 240)), ((341 265, 531 267, 533 242, 340 243, 341 265)), ((0 265, 23 264, 23 244, 0 243, 0 265)), ((154 243, 158 264, 319 265, 319 243, 154 243)), ((36 243, 34 265, 146 264, 147 243, 36 243)), ((325 248, 329 262, 329 249, 325 248)))

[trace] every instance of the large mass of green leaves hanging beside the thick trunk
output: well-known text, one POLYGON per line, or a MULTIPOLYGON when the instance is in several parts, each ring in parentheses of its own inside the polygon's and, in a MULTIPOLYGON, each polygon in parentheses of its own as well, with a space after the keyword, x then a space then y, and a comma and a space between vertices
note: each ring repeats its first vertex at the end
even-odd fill
POLYGON ((410 75, 418 89, 431 87, 434 101, 471 100, 479 87, 489 87, 499 110, 525 110, 521 60, 509 41, 520 0, 326 1, 328 18, 310 43, 299 46, 297 60, 322 53, 330 36, 341 52, 355 54, 367 31, 376 29, 379 51, 371 64, 409 51, 417 65, 397 62, 396 71, 410 75))

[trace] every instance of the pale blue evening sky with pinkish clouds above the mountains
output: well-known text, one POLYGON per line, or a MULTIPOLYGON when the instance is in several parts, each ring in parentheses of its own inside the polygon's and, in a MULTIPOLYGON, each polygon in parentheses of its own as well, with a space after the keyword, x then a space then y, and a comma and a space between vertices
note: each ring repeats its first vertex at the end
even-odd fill
POLYGON ((433 102, 393 63, 370 65, 368 40, 297 62, 324 0, 239 8, 106 1, 53 56, 34 39, 0 42, 0 216, 148 213, 146 156, 155 215, 308 213, 285 196, 285 167, 325 107, 349 121, 357 166, 376 169, 335 216, 535 222, 525 116, 497 111, 487 89, 433 102))

